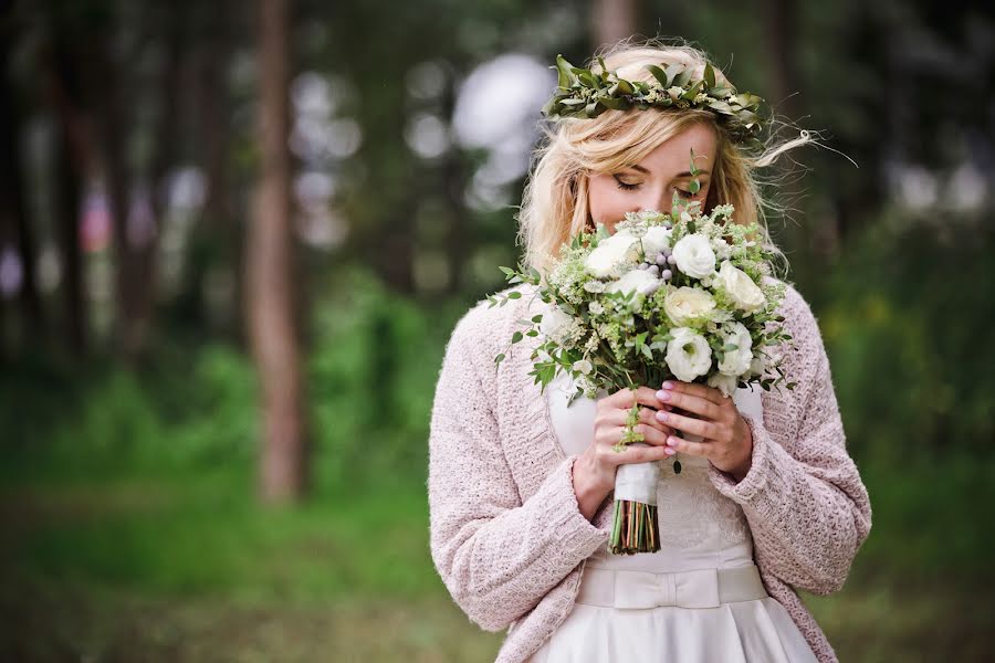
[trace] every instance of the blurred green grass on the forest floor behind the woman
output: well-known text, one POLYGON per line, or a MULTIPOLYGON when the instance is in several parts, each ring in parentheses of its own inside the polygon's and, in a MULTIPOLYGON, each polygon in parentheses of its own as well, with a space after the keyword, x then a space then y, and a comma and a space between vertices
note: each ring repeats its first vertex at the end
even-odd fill
MULTIPOLYGON (((874 528, 847 587, 806 597, 844 661, 984 661, 995 503, 970 459, 862 467, 874 528), (973 506, 974 511, 971 511, 973 506), (968 526, 968 524, 973 526, 968 526)), ((419 482, 247 499, 248 466, 0 484, 0 660, 490 661, 449 600, 419 482)))

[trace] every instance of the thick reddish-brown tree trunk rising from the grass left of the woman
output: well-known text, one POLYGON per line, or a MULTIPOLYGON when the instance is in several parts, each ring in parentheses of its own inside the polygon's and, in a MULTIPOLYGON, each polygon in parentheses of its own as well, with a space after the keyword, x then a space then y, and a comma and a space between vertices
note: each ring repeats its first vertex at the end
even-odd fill
POLYGON ((249 338, 262 394, 260 490, 265 502, 305 488, 303 389, 292 292, 287 148, 289 0, 260 0, 260 176, 247 242, 249 338))

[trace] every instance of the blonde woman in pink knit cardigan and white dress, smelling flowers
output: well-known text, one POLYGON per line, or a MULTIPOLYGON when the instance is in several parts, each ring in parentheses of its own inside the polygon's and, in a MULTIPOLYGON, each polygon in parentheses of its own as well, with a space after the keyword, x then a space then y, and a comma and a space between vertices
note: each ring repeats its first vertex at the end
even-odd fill
MULTIPOLYGON (((689 48, 624 46, 605 60, 619 77, 649 84, 647 65, 706 75, 689 48)), ((732 203, 741 223, 757 218, 753 170, 794 144, 757 154, 727 115, 683 106, 558 120, 520 217, 526 264, 544 272, 585 225, 610 231, 627 211, 669 209, 674 193, 705 210, 732 203)), ((531 339, 507 348, 519 320, 537 313, 530 287, 459 322, 431 419, 432 558, 473 621, 509 629, 498 661, 835 661, 795 589, 842 586, 870 506, 845 449, 818 326, 797 291, 788 285, 782 306, 794 390, 729 399, 668 382, 567 408, 564 385, 541 393, 528 375, 531 339), (500 352, 507 358, 495 368, 500 352), (616 453, 633 400, 645 406, 649 445, 616 453), (685 470, 658 486, 662 549, 608 555, 618 465, 673 459, 685 470)))

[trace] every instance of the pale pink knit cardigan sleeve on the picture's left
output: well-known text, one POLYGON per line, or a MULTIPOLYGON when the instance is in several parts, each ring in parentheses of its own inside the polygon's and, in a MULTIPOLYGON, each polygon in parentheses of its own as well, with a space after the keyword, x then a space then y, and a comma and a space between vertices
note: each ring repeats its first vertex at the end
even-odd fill
MULTIPOLYGON (((524 502, 494 413, 491 345, 471 312, 447 346, 429 433, 429 515, 436 568, 471 620, 499 631, 532 610, 607 535, 585 518, 569 456, 524 502)), ((502 370, 505 370, 502 368, 502 370)))

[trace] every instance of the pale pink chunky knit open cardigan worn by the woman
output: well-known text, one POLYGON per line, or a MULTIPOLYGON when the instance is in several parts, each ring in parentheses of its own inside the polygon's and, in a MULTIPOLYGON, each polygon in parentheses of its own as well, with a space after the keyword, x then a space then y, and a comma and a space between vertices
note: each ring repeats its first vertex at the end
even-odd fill
MULTIPOLYGON (((540 311, 533 286, 503 307, 479 303, 457 324, 436 387, 429 436, 431 552, 455 602, 483 629, 509 629, 498 663, 526 661, 570 612, 585 561, 606 545, 609 495, 588 522, 549 420, 528 376, 537 340, 511 346, 516 320, 540 311), (494 357, 507 358, 495 368, 494 357)), ((788 285, 782 306, 795 339, 785 372, 798 386, 763 392, 753 466, 712 483, 743 508, 768 593, 797 623, 818 660, 831 645, 793 588, 840 589, 867 537, 871 511, 847 454, 829 362, 808 304, 788 285)))

